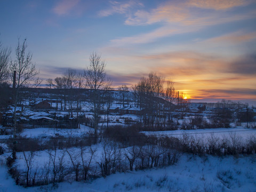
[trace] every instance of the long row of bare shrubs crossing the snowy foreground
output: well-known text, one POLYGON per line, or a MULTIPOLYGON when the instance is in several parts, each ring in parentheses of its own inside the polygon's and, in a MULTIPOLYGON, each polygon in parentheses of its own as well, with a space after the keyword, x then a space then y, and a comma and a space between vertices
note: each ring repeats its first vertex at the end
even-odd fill
POLYGON ((20 155, 25 169, 12 166, 10 173, 19 185, 45 185, 172 165, 179 161, 181 153, 222 156, 253 154, 256 150, 255 137, 243 139, 236 133, 230 133, 229 137, 212 134, 207 138, 191 134, 183 134, 180 138, 151 135, 143 145, 125 148, 113 139, 105 138, 97 147, 84 146, 81 140, 74 147, 70 137, 62 149, 59 149, 59 140, 53 140, 51 148, 45 151, 23 150, 20 155), (44 162, 38 163, 37 156, 43 156, 44 162))

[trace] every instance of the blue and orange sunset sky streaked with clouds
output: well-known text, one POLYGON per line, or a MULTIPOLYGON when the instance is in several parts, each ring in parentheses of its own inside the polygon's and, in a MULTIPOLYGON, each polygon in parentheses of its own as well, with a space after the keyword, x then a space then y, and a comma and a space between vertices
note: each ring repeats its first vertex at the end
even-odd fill
POLYGON ((0 0, 0 18, 12 60, 26 38, 43 79, 83 71, 97 52, 114 86, 153 72, 192 101, 256 105, 254 0, 0 0))

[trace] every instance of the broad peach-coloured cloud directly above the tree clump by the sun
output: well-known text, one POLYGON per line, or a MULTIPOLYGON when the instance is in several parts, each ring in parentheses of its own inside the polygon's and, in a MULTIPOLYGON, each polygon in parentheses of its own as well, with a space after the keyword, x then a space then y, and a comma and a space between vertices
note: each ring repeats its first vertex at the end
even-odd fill
MULTIPOLYGON (((203 54, 193 51, 174 51, 160 54, 139 56, 145 63, 157 63, 151 70, 159 71, 164 76, 197 76, 212 74, 223 70, 226 60, 218 55, 203 54)), ((226 68, 225 68, 226 69, 226 68)))

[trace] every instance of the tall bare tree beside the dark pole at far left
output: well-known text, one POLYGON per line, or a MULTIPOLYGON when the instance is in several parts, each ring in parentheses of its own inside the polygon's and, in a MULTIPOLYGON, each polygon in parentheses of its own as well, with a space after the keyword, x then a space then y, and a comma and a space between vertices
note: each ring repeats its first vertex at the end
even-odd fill
POLYGON ((10 71, 16 71, 16 79, 15 79, 15 87, 14 88, 14 112, 13 112, 13 153, 12 157, 16 158, 16 127, 17 127, 17 101, 19 97, 19 91, 21 87, 29 86, 31 82, 35 80, 35 76, 39 74, 36 70, 36 65, 32 62, 32 54, 30 52, 26 52, 27 49, 27 39, 24 39, 22 43, 20 43, 20 39, 18 38, 18 45, 15 50, 16 60, 11 61, 10 71))

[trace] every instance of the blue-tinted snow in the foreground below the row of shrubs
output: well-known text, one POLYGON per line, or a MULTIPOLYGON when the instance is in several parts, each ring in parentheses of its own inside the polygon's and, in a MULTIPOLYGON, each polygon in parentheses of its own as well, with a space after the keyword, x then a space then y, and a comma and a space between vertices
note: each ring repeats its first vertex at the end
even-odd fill
POLYGON ((256 191, 256 156, 193 156, 157 169, 116 173, 87 182, 23 188, 7 174, 0 156, 0 191, 256 191))

